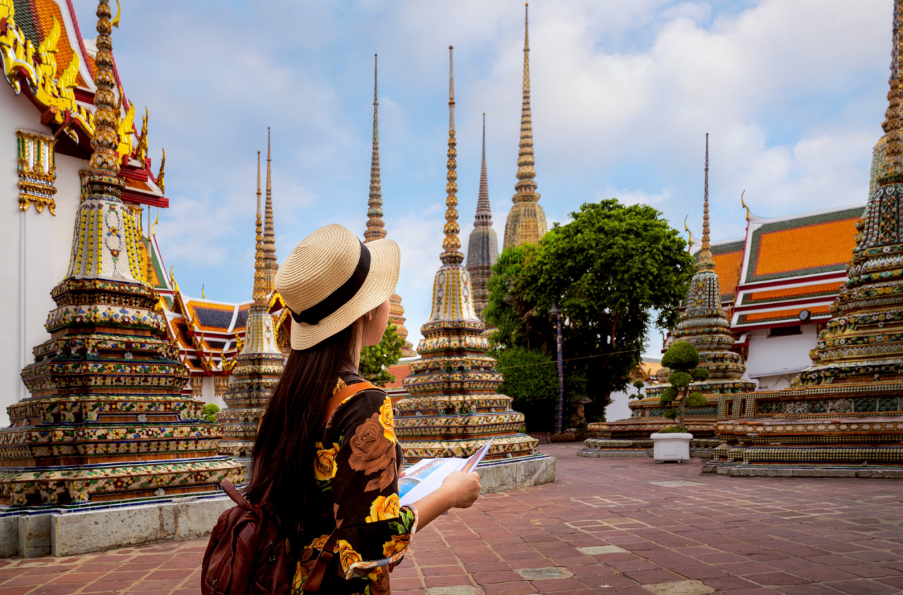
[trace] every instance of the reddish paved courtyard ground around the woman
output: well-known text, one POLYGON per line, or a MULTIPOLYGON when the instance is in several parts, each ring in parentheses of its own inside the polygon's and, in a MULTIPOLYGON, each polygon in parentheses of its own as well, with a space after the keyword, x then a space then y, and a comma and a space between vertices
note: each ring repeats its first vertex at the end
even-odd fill
MULTIPOLYGON (((481 497, 414 539, 393 592, 903 593, 903 480, 728 478, 700 460, 587 459, 481 497)), ((200 592, 206 539, 0 560, 0 595, 200 592)), ((325 594, 324 594, 325 595, 325 594)))

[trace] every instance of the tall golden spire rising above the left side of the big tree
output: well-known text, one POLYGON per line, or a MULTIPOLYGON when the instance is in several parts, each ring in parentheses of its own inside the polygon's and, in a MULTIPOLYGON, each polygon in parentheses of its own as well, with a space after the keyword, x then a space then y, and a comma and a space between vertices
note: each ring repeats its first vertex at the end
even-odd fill
POLYGON ((535 244, 545 236, 545 212, 539 206, 533 159, 533 120, 530 116, 530 36, 524 16, 524 98, 520 112, 520 149, 517 152, 517 184, 514 201, 505 222, 503 248, 535 244))

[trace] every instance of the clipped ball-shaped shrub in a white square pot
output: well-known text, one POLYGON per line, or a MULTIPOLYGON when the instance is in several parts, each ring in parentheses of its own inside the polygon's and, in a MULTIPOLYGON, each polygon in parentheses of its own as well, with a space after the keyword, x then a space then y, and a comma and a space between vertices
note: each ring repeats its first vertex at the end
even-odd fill
POLYGON ((675 341, 662 358, 662 366, 672 370, 668 386, 659 397, 658 403, 668 407, 665 417, 676 420, 671 425, 650 436, 653 441, 653 458, 663 460, 690 460, 690 441, 693 434, 684 427, 684 411, 687 406, 701 407, 706 404, 702 393, 690 392, 693 382, 708 379, 709 370, 699 366, 699 351, 693 343, 675 341))

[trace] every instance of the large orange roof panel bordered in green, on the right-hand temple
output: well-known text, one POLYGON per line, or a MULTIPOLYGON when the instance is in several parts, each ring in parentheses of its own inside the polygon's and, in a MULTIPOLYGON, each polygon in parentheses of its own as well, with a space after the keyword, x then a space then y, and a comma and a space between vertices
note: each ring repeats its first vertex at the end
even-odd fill
POLYGON ((746 282, 842 271, 862 208, 766 223, 753 232, 746 282))

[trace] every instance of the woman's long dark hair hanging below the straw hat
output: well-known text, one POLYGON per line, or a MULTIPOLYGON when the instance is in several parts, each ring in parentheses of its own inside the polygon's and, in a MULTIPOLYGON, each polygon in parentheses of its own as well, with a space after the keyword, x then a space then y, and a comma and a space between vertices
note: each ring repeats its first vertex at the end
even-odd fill
POLYGON ((325 421, 326 405, 343 371, 355 370, 360 319, 312 348, 292 349, 279 384, 273 389, 252 457, 245 488, 250 502, 275 513, 291 541, 303 526, 307 495, 314 488, 313 443, 325 421))

